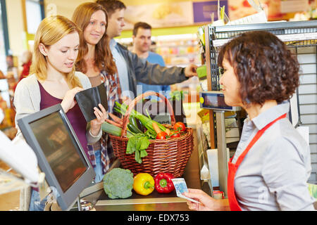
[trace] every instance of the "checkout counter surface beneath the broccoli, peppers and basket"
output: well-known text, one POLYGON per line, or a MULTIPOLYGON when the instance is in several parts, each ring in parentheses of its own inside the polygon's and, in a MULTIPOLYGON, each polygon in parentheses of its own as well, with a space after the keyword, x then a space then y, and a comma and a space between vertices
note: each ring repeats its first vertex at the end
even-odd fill
MULTIPOLYGON (((204 150, 201 145, 201 127, 193 129, 194 150, 185 167, 182 177, 188 188, 202 189, 211 195, 210 179, 205 175, 201 180, 201 168, 204 167, 204 150)), ((205 161, 206 163, 206 161, 205 161)), ((204 174, 203 174, 204 176, 204 174)), ((209 177, 210 178, 210 177, 209 177)), ((101 186, 102 182, 96 185, 101 186)), ((147 196, 132 191, 132 196, 125 199, 110 199, 102 188, 99 191, 82 196, 94 205, 97 211, 189 211, 186 200, 179 198, 175 190, 168 194, 153 191, 147 196)))

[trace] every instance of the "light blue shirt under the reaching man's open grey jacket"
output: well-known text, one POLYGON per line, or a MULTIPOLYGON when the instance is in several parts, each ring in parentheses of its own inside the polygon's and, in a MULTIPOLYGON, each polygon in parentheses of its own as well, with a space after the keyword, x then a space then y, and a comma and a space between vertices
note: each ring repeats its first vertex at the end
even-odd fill
POLYGON ((114 39, 110 40, 110 50, 112 53, 112 56, 116 62, 116 66, 118 69, 118 75, 119 75, 119 81, 120 86, 122 90, 123 96, 128 96, 132 99, 134 99, 136 96, 133 96, 132 91, 130 91, 129 87, 129 77, 128 77, 128 68, 127 63, 125 62, 125 59, 116 49, 117 42, 114 39))

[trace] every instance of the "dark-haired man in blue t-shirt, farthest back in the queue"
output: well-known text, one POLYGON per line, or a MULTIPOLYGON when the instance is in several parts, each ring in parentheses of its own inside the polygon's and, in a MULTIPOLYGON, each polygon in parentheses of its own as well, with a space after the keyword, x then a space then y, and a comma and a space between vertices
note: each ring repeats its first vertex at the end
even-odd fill
MULTIPOLYGON (((151 52, 151 25, 148 23, 139 22, 133 27, 132 39, 133 49, 132 52, 136 53, 139 58, 146 59, 149 63, 159 64, 165 66, 163 57, 157 53, 151 52)), ((166 98, 169 98, 170 86, 169 85, 151 85, 137 82, 142 85, 142 93, 147 91, 155 91, 166 98)), ((153 98, 152 98, 153 99, 153 98)))

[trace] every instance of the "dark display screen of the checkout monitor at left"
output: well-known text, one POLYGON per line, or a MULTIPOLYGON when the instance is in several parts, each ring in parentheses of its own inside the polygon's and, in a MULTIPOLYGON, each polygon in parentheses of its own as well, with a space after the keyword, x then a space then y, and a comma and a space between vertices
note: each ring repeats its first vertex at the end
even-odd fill
POLYGON ((30 127, 62 191, 66 192, 87 169, 87 162, 75 148, 77 143, 58 112, 30 123, 30 127))

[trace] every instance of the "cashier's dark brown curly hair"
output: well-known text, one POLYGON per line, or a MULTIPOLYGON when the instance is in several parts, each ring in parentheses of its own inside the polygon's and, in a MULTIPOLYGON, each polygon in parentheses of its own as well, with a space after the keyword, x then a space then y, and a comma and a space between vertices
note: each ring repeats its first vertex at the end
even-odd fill
POLYGON ((240 82, 245 105, 289 99, 299 86, 299 63, 274 34, 245 32, 220 49, 218 66, 228 60, 240 82))

